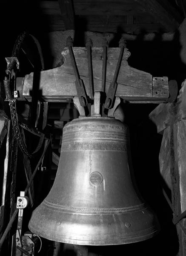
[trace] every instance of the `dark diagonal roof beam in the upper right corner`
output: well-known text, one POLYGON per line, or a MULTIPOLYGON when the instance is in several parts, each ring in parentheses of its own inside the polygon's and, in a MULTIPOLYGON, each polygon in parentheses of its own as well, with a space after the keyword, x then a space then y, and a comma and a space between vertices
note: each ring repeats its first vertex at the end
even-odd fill
MULTIPOLYGON (((157 0, 134 0, 140 3, 146 12, 149 12, 155 19, 160 22, 168 31, 175 31, 179 23, 175 20, 175 17, 169 12, 169 9, 164 9, 163 6, 157 2, 157 0)), ((170 3, 169 3, 170 5, 170 3)))

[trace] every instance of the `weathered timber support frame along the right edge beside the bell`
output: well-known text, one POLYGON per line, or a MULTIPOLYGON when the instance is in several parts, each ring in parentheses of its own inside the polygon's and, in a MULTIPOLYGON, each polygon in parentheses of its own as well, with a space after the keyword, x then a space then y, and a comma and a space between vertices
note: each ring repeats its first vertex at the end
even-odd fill
POLYGON ((160 172, 172 189, 173 222, 180 241, 179 256, 186 255, 186 81, 183 82, 177 103, 160 104, 149 117, 163 133, 160 149, 160 172), (182 215, 181 215, 182 214, 182 215), (176 221, 178 220, 178 221, 176 221))

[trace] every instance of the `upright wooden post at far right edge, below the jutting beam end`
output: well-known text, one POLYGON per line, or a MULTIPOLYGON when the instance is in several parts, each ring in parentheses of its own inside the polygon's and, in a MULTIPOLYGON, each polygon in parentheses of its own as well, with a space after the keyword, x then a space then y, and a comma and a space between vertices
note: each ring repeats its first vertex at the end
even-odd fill
MULTIPOLYGON (((171 129, 171 179, 172 208, 174 217, 186 210, 186 122, 176 122, 171 129)), ((176 225, 180 242, 179 256, 186 255, 185 240, 186 220, 176 225), (184 230, 184 232, 183 232, 184 230)))

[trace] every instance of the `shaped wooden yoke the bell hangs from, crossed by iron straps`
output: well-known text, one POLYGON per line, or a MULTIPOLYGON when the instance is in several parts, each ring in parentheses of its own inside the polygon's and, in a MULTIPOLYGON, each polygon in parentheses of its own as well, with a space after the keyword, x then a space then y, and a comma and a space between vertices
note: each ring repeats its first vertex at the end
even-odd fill
MULTIPOLYGON (((87 52, 85 48, 73 47, 74 56, 86 87, 87 95, 90 96, 87 52)), ((119 48, 109 48, 106 92, 113 79, 117 59, 120 53, 119 48)), ((64 99, 77 96, 75 87, 74 70, 69 56, 69 50, 65 48, 62 52, 64 64, 52 70, 45 70, 40 73, 40 90, 43 97, 47 99, 64 99)), ((152 75, 141 70, 130 67, 127 58, 130 52, 125 49, 120 72, 117 79, 116 96, 128 101, 165 101, 169 97, 167 77, 153 79, 152 75), (154 93, 156 91, 157 93, 154 93)), ((102 83, 102 48, 92 48, 92 65, 94 75, 94 90, 101 90, 102 83)), ((27 98, 31 95, 33 73, 26 75, 23 83, 23 95, 27 98)))

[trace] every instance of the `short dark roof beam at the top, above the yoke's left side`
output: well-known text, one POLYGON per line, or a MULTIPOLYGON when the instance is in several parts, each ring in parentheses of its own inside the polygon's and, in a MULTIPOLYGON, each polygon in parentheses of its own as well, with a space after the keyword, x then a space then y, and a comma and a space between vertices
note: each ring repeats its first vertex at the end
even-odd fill
POLYGON ((74 29, 74 9, 72 0, 58 0, 65 29, 74 29))

